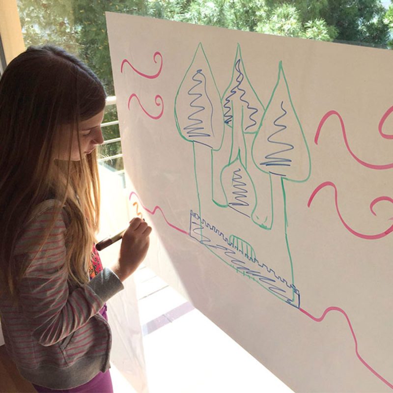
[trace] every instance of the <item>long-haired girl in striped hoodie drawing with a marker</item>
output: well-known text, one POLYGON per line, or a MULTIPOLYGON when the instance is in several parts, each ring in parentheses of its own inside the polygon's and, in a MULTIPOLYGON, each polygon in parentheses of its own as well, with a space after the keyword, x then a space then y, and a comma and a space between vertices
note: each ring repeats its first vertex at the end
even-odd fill
POLYGON ((102 84, 53 46, 29 47, 0 79, 0 318, 38 392, 112 392, 105 302, 146 255, 134 218, 112 268, 95 250, 102 84))

